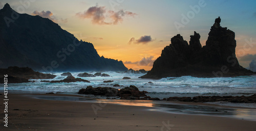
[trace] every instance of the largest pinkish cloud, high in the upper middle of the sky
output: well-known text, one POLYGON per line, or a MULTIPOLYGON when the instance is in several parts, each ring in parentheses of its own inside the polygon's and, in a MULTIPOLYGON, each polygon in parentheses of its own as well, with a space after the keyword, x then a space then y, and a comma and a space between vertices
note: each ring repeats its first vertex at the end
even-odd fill
POLYGON ((117 25, 122 23, 123 18, 126 16, 135 16, 136 13, 119 10, 117 12, 109 10, 107 11, 105 7, 93 6, 88 10, 76 13, 76 16, 80 18, 89 18, 92 20, 93 24, 96 25, 117 25))

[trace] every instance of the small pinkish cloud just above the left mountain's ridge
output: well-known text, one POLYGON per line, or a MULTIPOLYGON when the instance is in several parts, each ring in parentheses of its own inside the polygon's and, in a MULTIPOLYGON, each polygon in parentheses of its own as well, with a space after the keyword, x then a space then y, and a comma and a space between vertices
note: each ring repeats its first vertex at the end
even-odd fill
POLYGON ((58 21, 61 21, 61 23, 67 23, 68 22, 68 19, 66 18, 66 19, 63 19, 63 18, 60 18, 60 19, 58 19, 56 16, 54 16, 53 15, 53 13, 51 12, 51 11, 41 11, 41 12, 38 12, 37 10, 36 11, 34 11, 33 13, 32 13, 32 15, 39 15, 39 16, 41 16, 41 17, 44 17, 44 18, 49 18, 49 19, 51 19, 52 21, 54 21, 55 23, 58 23, 58 21))

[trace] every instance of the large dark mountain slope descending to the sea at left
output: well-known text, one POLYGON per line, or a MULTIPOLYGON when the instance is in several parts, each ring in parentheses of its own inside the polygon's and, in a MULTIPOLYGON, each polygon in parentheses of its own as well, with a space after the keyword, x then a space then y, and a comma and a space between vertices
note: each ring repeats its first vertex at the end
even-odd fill
POLYGON ((19 14, 6 4, 0 10, 0 68, 36 71, 126 71, 122 61, 100 57, 90 42, 48 18, 19 14))

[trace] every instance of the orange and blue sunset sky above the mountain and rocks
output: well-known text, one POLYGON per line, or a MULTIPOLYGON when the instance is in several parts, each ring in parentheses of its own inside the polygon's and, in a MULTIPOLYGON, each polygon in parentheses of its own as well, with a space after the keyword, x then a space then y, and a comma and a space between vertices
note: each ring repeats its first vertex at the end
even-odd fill
POLYGON ((170 38, 187 41, 194 31, 204 46, 215 18, 236 33, 236 55, 247 68, 256 60, 254 0, 1 0, 18 13, 53 20, 78 39, 93 43, 100 56, 125 67, 151 70, 170 38))

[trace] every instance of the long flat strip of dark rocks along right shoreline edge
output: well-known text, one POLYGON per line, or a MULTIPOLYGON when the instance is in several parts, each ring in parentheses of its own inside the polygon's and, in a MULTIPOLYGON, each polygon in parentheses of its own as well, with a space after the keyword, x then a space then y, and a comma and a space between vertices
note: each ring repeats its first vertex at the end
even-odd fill
POLYGON ((256 94, 251 96, 196 96, 196 97, 169 97, 167 101, 184 102, 218 102, 226 101, 232 103, 256 103, 256 94))

